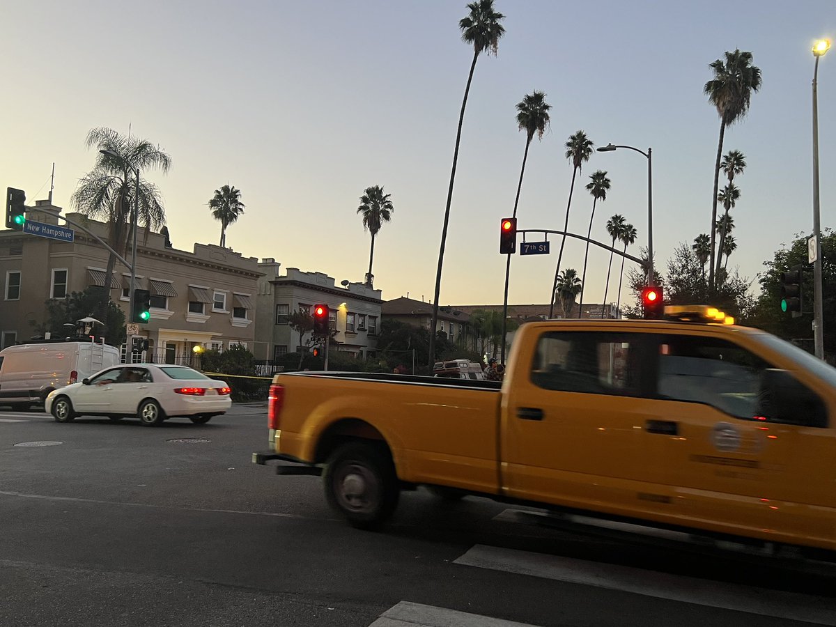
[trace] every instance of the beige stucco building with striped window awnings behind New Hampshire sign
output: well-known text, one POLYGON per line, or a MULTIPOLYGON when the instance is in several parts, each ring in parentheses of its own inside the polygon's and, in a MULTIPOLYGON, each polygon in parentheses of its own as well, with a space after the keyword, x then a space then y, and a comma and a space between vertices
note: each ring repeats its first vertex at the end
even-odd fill
MULTIPOLYGON (((58 224, 58 218, 43 207, 52 206, 48 201, 37 201, 27 212, 27 220, 58 224)), ((107 241, 105 223, 76 213, 68 217, 107 241)), ((74 232, 70 243, 0 231, 3 346, 35 334, 30 321, 43 323, 44 303, 49 298, 104 285, 108 251, 83 231, 74 232)), ((142 227, 137 235, 136 288, 151 293, 150 322, 140 325, 140 335, 149 340, 149 359, 188 362, 196 345, 226 349, 243 344, 253 349, 255 296, 261 276, 256 257, 242 257, 212 244, 196 243, 192 252, 177 250, 161 233, 146 234, 142 227)), ((130 315, 129 287, 130 268, 117 262, 110 299, 120 305, 126 319, 130 315)))

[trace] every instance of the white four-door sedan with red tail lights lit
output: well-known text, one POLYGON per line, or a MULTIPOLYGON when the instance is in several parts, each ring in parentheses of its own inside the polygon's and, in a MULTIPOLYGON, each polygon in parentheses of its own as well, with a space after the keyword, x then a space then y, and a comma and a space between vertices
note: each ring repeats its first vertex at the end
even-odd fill
POLYGON ((231 406, 229 386, 197 370, 125 364, 50 392, 44 409, 56 422, 70 422, 78 415, 106 415, 114 421, 135 415, 143 425, 155 426, 175 416, 203 424, 231 406))

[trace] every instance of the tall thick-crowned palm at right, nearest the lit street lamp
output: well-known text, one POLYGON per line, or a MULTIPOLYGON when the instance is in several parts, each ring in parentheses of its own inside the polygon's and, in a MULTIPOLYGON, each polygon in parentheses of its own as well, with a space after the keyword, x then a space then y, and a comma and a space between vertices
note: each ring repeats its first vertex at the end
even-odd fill
MULTIPOLYGON (((714 190, 711 195, 711 224, 717 219, 717 189, 720 185, 720 158, 723 151, 723 135, 726 126, 741 120, 749 110, 752 94, 761 89, 761 70, 752 65, 752 53, 726 52, 726 60, 716 59, 709 65, 714 78, 708 81, 703 92, 720 115, 720 140, 717 142, 717 158, 714 165, 714 190)), ((714 289, 714 231, 711 231, 711 265, 708 282, 714 289)))

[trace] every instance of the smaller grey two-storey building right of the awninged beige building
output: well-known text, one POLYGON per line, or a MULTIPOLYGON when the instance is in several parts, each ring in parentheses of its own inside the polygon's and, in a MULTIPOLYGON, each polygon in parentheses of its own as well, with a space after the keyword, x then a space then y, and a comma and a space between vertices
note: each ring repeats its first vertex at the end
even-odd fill
POLYGON ((257 359, 278 360, 283 354, 307 349, 310 334, 301 339, 289 324, 293 312, 310 313, 315 304, 329 306, 331 329, 338 350, 354 354, 358 359, 374 357, 380 334, 379 289, 348 280, 336 285, 325 273, 302 272, 287 268, 280 273, 280 264, 273 258, 258 264, 256 299, 257 359))

